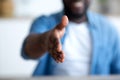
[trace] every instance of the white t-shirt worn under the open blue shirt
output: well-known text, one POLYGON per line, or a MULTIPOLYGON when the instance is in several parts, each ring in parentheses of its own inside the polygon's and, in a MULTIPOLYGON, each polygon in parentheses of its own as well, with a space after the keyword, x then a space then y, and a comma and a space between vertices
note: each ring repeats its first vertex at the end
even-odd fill
POLYGON ((84 76, 89 74, 91 61, 91 37, 87 22, 70 22, 62 45, 65 61, 56 64, 54 75, 84 76))

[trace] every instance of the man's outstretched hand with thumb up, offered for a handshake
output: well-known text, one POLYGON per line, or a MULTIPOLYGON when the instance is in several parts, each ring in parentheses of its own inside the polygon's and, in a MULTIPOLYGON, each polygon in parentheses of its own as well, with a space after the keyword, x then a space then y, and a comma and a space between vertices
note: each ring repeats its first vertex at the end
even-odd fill
POLYGON ((64 62, 64 52, 62 51, 62 45, 60 39, 65 33, 65 27, 68 24, 68 17, 63 16, 61 22, 50 31, 48 37, 48 52, 57 63, 64 62))

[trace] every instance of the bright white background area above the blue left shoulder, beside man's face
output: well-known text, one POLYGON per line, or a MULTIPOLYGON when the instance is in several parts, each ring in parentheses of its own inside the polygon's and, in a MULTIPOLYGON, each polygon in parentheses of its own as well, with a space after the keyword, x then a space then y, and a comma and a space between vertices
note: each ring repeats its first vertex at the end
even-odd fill
POLYGON ((62 10, 62 0, 14 0, 16 16, 49 15, 62 10))

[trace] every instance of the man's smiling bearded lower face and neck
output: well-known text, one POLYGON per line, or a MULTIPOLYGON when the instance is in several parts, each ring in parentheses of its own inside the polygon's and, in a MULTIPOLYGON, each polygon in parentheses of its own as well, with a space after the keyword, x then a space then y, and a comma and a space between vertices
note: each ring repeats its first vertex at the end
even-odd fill
POLYGON ((90 0, 63 0, 64 12, 70 21, 81 23, 87 21, 86 11, 89 7, 90 0), (76 6, 79 5, 79 6, 76 6))

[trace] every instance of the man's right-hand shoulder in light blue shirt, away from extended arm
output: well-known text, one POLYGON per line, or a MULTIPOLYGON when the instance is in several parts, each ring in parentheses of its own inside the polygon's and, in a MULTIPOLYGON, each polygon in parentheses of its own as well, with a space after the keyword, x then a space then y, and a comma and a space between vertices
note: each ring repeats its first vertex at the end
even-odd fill
POLYGON ((94 25, 96 28, 105 31, 105 32, 117 32, 115 26, 112 24, 112 22, 104 15, 101 15, 99 13, 89 12, 88 13, 89 21, 92 25, 94 25))

